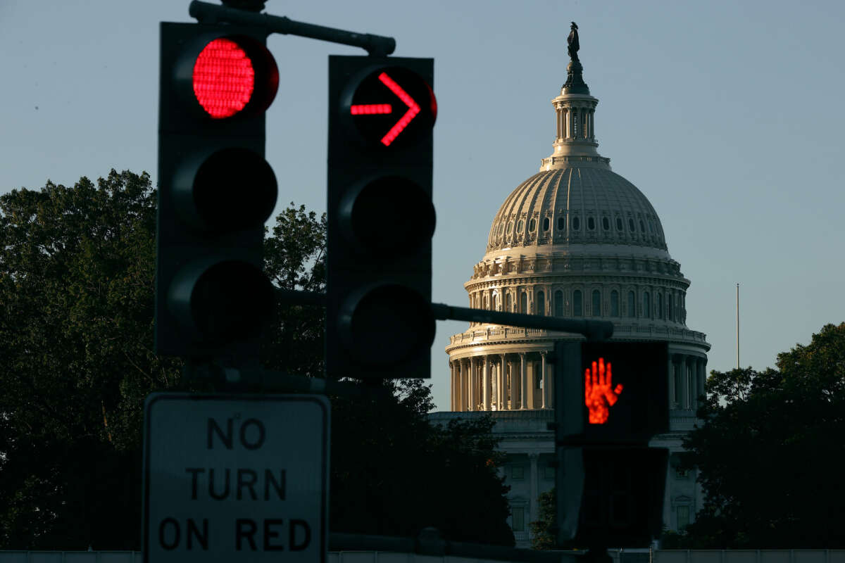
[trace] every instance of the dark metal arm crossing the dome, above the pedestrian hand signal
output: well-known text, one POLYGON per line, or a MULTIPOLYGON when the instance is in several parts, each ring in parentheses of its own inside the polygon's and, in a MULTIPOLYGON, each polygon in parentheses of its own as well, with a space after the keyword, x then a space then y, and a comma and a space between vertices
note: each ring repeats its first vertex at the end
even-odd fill
POLYGON ((432 303, 431 308, 434 318, 440 321, 487 322, 509 327, 545 328, 546 330, 559 330, 563 333, 583 334, 587 340, 596 341, 607 340, 613 336, 613 322, 610 321, 561 319, 543 317, 542 315, 503 313, 499 311, 487 311, 485 309, 453 307, 441 303, 432 303))

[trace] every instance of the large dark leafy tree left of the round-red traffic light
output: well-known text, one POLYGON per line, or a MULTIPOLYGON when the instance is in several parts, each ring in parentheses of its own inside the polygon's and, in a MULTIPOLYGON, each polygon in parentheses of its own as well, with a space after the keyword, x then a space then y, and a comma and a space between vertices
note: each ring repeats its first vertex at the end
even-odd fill
POLYGON ((4 545, 137 543, 141 405, 178 376, 152 351, 154 233, 145 174, 0 197, 4 545))

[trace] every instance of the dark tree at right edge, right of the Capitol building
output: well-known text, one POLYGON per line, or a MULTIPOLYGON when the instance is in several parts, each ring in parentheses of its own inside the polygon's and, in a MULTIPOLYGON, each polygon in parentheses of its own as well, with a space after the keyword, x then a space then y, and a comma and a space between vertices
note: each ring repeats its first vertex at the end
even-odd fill
POLYGON ((701 548, 845 547, 845 323, 777 355, 777 369, 713 371, 684 441, 706 494, 684 534, 701 548))

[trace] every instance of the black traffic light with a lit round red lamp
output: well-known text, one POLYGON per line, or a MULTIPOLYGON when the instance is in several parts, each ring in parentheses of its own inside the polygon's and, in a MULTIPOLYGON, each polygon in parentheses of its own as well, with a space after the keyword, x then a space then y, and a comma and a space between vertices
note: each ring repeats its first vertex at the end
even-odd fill
POLYGON ((257 360, 273 307, 262 271, 277 186, 264 111, 279 73, 266 32, 161 23, 155 351, 257 360))

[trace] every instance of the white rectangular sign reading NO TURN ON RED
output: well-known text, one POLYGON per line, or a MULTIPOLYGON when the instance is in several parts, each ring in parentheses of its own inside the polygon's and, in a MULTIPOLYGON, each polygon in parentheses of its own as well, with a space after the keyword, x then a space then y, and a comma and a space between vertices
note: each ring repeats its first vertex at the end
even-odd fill
POLYGON ((325 563, 329 401, 152 393, 144 563, 325 563))

